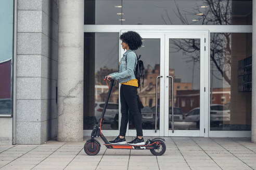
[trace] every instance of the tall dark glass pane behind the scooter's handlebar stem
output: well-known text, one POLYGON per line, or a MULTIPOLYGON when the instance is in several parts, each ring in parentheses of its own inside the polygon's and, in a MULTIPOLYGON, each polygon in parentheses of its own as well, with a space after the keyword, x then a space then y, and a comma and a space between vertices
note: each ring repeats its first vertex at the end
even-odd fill
MULTIPOLYGON (((104 78, 118 71, 119 33, 84 34, 84 130, 98 123, 108 93, 104 78)), ((113 86, 103 130, 118 130, 119 86, 113 86)))

